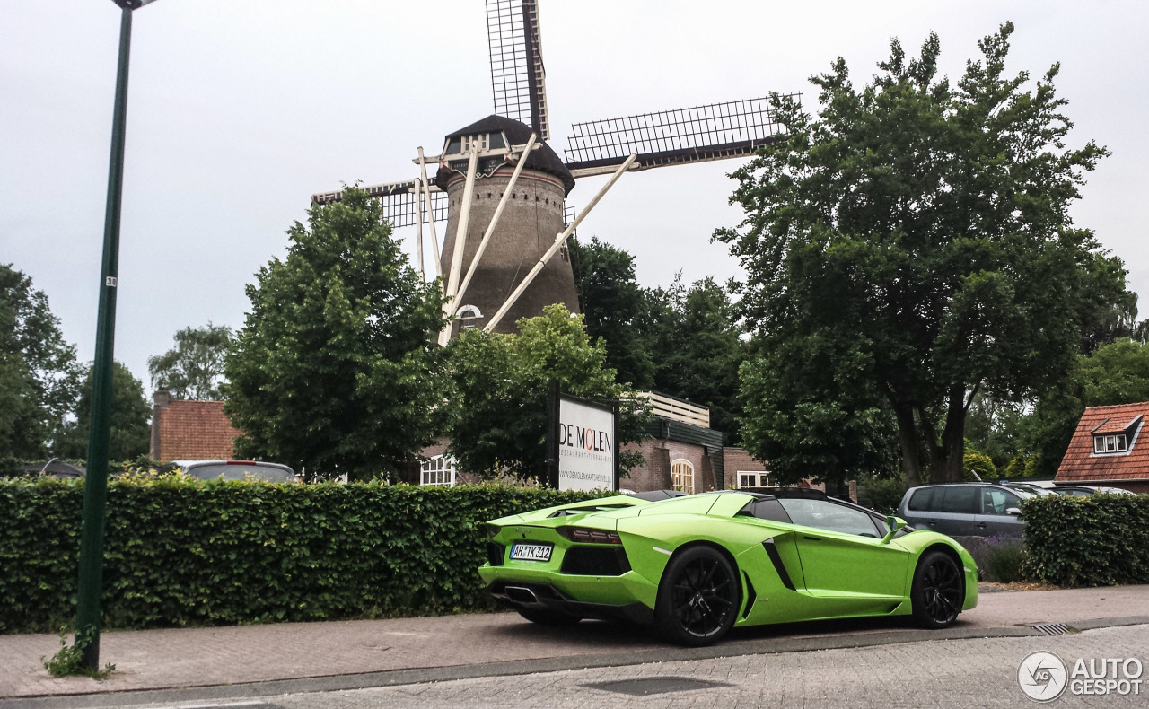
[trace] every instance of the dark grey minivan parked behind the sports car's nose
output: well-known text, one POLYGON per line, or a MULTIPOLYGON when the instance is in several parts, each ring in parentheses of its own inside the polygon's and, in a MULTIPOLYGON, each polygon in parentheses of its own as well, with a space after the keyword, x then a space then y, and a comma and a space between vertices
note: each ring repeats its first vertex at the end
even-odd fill
POLYGON ((897 516, 919 530, 950 537, 1020 534, 1021 500, 1033 493, 992 483, 950 483, 911 487, 897 516))

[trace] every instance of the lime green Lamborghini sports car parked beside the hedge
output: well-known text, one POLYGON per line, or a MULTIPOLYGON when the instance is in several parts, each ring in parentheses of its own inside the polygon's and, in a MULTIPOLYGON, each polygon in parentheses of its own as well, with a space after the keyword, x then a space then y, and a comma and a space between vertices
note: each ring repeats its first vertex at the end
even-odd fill
POLYGON ((941 629, 978 602, 959 544, 811 490, 616 495, 486 527, 491 594, 549 625, 623 618, 701 646, 733 626, 825 618, 941 629))

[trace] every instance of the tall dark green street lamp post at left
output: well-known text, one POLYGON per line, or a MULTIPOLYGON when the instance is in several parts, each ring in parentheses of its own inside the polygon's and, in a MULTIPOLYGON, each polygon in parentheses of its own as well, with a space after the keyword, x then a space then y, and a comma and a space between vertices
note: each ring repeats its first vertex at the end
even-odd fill
POLYGON ((108 201, 103 216, 103 260, 100 268, 100 307, 95 322, 95 362, 92 365, 92 419, 84 476, 84 521, 79 541, 79 587, 76 598, 76 645, 84 665, 100 664, 100 596, 103 593, 103 517, 108 487, 108 432, 111 418, 111 363, 116 334, 116 273, 119 263, 119 203, 124 183, 124 129, 128 118, 128 56, 132 10, 154 0, 113 0, 121 8, 119 60, 116 102, 111 118, 111 159, 108 201))

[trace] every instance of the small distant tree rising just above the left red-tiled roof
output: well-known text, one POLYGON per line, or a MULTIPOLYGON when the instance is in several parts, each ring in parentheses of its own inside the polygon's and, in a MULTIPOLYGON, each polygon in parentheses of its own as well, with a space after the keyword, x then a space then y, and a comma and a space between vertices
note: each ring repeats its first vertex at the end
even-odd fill
POLYGON ((175 347, 148 357, 152 386, 168 390, 175 399, 223 399, 223 362, 234 341, 231 327, 211 323, 203 327, 184 327, 175 339, 175 347))

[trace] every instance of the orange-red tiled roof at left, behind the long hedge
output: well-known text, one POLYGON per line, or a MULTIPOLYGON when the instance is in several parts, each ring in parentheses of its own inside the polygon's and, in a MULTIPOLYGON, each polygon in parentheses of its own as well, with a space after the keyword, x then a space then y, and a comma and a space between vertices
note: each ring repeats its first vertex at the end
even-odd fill
POLYGON ((153 457, 161 461, 231 458, 232 440, 239 436, 222 401, 175 400, 156 407, 153 422, 159 425, 153 457))

